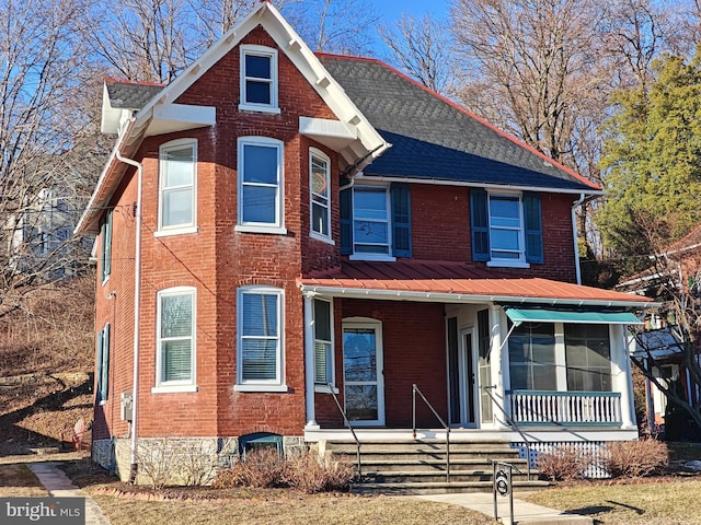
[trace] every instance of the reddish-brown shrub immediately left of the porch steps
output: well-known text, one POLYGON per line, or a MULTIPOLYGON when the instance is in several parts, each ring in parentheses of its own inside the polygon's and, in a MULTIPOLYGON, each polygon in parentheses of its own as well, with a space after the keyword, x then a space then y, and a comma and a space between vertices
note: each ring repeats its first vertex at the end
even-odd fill
POLYGON ((355 477, 353 464, 333 455, 320 458, 308 452, 288 459, 287 466, 288 485, 308 494, 346 490, 355 477))

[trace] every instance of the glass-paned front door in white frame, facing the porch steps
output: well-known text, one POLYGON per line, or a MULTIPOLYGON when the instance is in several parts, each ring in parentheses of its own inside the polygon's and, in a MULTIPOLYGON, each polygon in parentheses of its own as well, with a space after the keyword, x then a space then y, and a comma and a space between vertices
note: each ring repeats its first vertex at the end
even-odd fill
POLYGON ((382 325, 371 320, 343 323, 345 410, 354 425, 384 424, 382 325))

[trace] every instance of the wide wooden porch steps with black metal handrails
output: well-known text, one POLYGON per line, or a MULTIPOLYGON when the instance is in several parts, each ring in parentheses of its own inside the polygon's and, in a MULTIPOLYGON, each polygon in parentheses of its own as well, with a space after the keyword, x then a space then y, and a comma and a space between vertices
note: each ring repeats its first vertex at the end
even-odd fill
MULTIPOLYGON (((352 441, 327 441, 325 452, 357 460, 352 441)), ((473 441, 450 443, 450 481, 446 477, 445 440, 367 441, 360 446, 363 477, 355 492, 429 494, 492 491, 493 460, 509 463, 522 474, 513 474, 514 490, 547 487, 537 472, 527 479, 527 463, 509 442, 473 441)))

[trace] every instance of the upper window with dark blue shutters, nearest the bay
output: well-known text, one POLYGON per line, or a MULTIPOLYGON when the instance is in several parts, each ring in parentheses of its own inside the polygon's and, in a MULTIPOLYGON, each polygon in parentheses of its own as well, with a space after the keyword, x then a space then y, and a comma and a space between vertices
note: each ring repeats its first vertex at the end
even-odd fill
POLYGON ((341 253, 356 259, 411 257, 406 184, 354 186, 341 192, 341 253))

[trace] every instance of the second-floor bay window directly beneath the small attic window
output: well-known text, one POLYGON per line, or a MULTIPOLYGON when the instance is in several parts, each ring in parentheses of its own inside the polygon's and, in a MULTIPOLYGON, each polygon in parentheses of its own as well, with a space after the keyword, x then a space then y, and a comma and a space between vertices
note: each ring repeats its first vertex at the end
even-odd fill
POLYGON ((285 233, 283 228, 283 142, 239 139, 238 230, 285 233))

